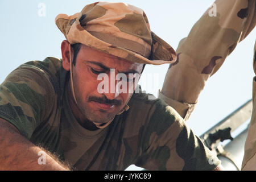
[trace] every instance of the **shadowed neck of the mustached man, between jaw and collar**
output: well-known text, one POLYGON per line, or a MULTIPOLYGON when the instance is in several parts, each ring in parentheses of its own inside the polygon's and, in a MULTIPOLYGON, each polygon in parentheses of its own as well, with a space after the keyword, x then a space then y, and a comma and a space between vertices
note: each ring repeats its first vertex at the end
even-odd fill
POLYGON ((77 122, 79 122, 79 124, 87 130, 90 130, 90 131, 97 130, 98 127, 96 127, 96 125, 94 125, 93 122, 89 121, 77 106, 75 102, 75 98, 73 98, 70 80, 68 81, 67 86, 68 86, 67 90, 68 90, 69 106, 71 107, 72 113, 74 117, 77 119, 77 122))

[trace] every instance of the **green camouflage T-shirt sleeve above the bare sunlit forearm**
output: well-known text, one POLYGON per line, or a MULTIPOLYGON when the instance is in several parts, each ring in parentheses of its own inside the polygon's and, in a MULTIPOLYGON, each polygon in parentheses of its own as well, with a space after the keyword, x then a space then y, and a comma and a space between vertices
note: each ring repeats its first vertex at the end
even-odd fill
POLYGON ((47 118, 54 93, 46 73, 34 67, 36 61, 26 63, 7 76, 0 85, 0 117, 12 123, 27 139, 47 118))

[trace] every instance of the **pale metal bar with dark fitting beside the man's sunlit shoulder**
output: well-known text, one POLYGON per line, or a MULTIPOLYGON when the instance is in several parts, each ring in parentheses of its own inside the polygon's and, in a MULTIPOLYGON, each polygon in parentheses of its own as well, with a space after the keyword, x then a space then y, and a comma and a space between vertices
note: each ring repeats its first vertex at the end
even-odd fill
POLYGON ((240 167, 238 166, 241 166, 242 157, 240 156, 240 159, 238 160, 239 157, 236 155, 243 152, 244 143, 241 143, 240 140, 242 136, 242 141, 245 142, 246 135, 244 133, 247 131, 247 129, 242 131, 242 133, 234 138, 234 140, 231 133, 250 119, 252 110, 252 100, 249 100, 233 113, 229 114, 228 117, 222 119, 222 121, 218 122, 211 129, 200 136, 205 146, 216 153, 222 162, 222 166, 224 166, 226 169, 230 170, 230 166, 233 164, 233 168, 240 170, 240 167), (229 142, 223 147, 220 142, 227 139, 233 141, 229 142), (238 163, 240 163, 240 165, 237 165, 238 163))

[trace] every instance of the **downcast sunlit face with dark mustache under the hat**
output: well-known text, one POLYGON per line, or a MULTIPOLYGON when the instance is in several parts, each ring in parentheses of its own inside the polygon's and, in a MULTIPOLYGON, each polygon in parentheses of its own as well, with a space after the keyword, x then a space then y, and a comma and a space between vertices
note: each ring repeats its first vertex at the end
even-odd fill
POLYGON ((84 117, 98 123, 113 119, 133 95, 142 68, 143 64, 82 45, 73 65, 73 84, 84 117))

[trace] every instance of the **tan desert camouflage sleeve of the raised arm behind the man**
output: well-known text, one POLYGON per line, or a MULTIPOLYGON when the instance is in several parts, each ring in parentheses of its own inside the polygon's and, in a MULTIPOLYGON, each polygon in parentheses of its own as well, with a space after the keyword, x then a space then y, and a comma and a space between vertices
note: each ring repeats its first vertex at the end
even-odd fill
POLYGON ((205 82, 245 39, 256 23, 255 0, 217 0, 195 23, 176 50, 159 98, 189 118, 205 82), (216 14, 214 15, 214 10, 216 14))

